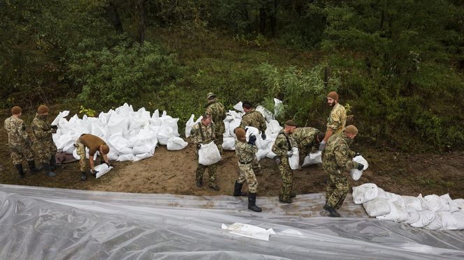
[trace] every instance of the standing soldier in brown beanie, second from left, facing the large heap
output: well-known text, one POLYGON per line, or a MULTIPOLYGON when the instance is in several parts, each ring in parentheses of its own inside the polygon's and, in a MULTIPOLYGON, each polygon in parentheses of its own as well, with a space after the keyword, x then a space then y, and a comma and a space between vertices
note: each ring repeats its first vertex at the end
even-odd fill
POLYGON ((32 132, 36 139, 36 148, 38 159, 41 160, 43 169, 47 176, 53 177, 56 174, 52 171, 51 167, 57 165, 55 155, 57 153, 57 146, 52 139, 52 134, 57 132, 57 128, 52 128, 52 125, 47 122, 48 107, 41 105, 37 109, 36 117, 32 120, 32 132))

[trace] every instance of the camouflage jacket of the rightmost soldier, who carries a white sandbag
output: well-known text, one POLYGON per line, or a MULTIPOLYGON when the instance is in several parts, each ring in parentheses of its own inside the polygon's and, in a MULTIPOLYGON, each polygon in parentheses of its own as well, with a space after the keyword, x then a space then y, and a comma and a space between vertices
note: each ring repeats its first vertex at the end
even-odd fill
POLYGON ((345 134, 332 135, 326 144, 326 149, 322 153, 322 167, 328 173, 337 173, 355 169, 358 163, 351 160, 354 151, 349 150, 349 138, 345 134))

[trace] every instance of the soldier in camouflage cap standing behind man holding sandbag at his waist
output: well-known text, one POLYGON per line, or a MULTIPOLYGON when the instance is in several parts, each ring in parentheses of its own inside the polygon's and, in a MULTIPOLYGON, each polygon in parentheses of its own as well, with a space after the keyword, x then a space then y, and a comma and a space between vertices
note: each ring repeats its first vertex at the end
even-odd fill
POLYGON ((226 119, 226 109, 224 105, 217 101, 215 93, 208 93, 206 97, 208 100, 208 105, 206 105, 206 113, 211 115, 212 122, 215 123, 215 136, 216 144, 219 149, 219 153, 224 152, 222 149, 222 143, 224 142, 224 132, 226 131, 226 126, 224 125, 224 119, 226 119))

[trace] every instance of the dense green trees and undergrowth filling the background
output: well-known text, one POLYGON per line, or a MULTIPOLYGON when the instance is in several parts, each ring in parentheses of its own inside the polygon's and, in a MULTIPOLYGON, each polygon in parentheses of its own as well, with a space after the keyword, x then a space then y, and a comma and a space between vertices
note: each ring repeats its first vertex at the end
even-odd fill
POLYGON ((2 0, 0 29, 0 107, 185 120, 215 91, 322 128, 337 90, 366 144, 464 147, 462 1, 2 0))

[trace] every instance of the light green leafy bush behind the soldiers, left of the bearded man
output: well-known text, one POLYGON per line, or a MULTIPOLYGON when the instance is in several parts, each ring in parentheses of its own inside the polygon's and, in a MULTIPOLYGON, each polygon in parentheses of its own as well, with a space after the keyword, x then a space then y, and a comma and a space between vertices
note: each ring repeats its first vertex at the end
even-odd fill
POLYGON ((263 63, 259 72, 270 95, 283 97, 286 118, 293 118, 300 125, 306 125, 308 118, 319 116, 327 91, 336 91, 340 87, 340 78, 335 75, 329 78, 326 89, 321 66, 310 70, 295 66, 278 69, 263 63))

